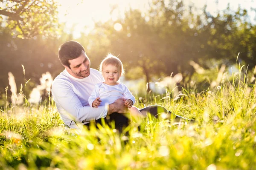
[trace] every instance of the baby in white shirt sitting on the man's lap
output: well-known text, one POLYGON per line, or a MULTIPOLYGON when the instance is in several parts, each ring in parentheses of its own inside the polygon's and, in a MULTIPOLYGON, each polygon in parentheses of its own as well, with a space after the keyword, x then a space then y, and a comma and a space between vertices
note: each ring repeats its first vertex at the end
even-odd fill
POLYGON ((109 54, 100 64, 99 71, 102 73, 104 82, 96 84, 92 94, 89 97, 91 107, 105 106, 114 103, 118 98, 125 98, 125 106, 130 110, 133 116, 142 115, 137 107, 134 107, 135 98, 129 89, 119 78, 124 74, 122 62, 119 58, 109 54))

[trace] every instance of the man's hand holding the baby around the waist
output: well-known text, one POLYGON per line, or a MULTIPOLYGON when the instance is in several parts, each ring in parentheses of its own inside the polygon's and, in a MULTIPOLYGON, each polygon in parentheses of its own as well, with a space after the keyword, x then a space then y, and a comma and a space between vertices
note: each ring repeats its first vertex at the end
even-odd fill
POLYGON ((108 115, 113 112, 128 113, 128 108, 125 106, 125 98, 119 98, 114 103, 108 105, 108 115))

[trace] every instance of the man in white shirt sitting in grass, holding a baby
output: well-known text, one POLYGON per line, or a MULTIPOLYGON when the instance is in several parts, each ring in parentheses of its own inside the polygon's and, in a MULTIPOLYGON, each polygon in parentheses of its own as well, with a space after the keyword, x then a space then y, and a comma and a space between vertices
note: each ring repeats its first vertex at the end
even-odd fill
MULTIPOLYGON (((117 99, 108 106, 90 107, 88 98, 94 86, 104 79, 98 70, 90 68, 90 60, 80 43, 68 41, 62 44, 58 58, 65 70, 54 79, 52 96, 67 127, 78 129, 77 124, 88 124, 107 115, 114 118, 119 131, 128 125, 128 118, 122 114, 127 112, 125 99, 117 99)), ((146 107, 140 111, 148 111, 154 116, 159 112, 169 112, 161 106, 146 107)))

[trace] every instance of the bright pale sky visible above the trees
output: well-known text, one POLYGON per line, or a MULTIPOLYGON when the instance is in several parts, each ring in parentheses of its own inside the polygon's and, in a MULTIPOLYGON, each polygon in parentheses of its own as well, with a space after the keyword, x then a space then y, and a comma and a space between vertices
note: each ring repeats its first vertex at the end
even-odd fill
MULTIPOLYGON (((94 22, 105 22, 110 18, 116 20, 117 16, 122 16, 125 10, 140 9, 145 11, 150 3, 148 0, 57 0, 61 6, 58 8, 58 18, 60 22, 66 23, 67 32, 74 26, 74 37, 79 37, 80 32, 88 32, 93 29, 94 22), (116 6, 119 10, 111 9, 116 6), (85 29, 86 28, 86 29, 85 29), (87 30, 87 31, 85 31, 87 30)), ((167 0, 168 1, 168 0, 167 0)), ((194 3, 196 7, 201 8, 207 4, 207 11, 212 15, 217 10, 223 10, 230 3, 230 8, 236 10, 240 5, 241 8, 247 9, 251 20, 255 17, 255 12, 250 12, 250 7, 256 8, 256 0, 183 0, 185 5, 194 3)))

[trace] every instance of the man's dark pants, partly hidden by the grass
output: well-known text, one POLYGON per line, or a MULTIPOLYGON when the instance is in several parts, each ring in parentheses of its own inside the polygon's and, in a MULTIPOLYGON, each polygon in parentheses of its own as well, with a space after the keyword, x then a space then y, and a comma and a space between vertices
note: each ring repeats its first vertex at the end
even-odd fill
MULTIPOLYGON (((175 115, 174 113, 172 113, 171 111, 167 110, 165 107, 162 107, 160 105, 152 105, 152 106, 148 106, 148 107, 145 107, 143 109, 140 109, 140 111, 146 111, 147 113, 150 113, 151 116, 153 117, 158 117, 158 114, 159 113, 167 113, 167 114, 170 114, 172 118, 174 118, 176 121, 179 121, 180 118, 182 119, 186 119, 186 118, 183 118, 181 116, 178 116, 178 115, 175 115)), ((116 130, 120 132, 122 132, 122 130, 125 129, 125 127, 127 127, 129 125, 129 118, 128 116, 126 116, 127 114, 120 114, 120 113, 112 113, 111 115, 109 116, 106 116, 104 118, 104 121, 106 124, 108 124, 109 126, 111 125, 111 122, 115 122, 115 128, 116 130)), ((98 119, 96 120, 96 124, 99 123, 102 125, 102 119, 98 119)), ((89 124, 85 124, 87 127, 90 127, 90 123, 89 124)))

